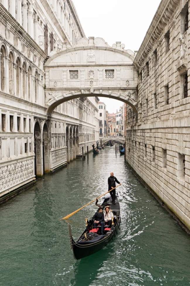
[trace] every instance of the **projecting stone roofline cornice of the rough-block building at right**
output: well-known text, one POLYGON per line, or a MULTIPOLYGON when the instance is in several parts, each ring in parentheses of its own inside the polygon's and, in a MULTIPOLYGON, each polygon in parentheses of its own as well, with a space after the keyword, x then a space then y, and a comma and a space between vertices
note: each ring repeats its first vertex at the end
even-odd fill
POLYGON ((156 14, 148 28, 146 36, 141 44, 138 53, 134 59, 134 66, 139 70, 141 65, 144 64, 148 54, 152 50, 155 43, 158 41, 165 26, 172 17, 174 11, 179 5, 180 0, 162 0, 156 14))

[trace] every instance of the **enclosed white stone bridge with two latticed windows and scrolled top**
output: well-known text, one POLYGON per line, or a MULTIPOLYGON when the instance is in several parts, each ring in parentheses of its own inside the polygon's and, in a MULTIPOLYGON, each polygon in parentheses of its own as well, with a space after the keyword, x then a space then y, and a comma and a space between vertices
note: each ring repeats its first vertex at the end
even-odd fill
POLYGON ((52 51, 44 64, 47 115, 62 102, 89 96, 126 102, 137 115, 135 54, 124 47, 121 42, 111 47, 102 38, 89 37, 52 51))

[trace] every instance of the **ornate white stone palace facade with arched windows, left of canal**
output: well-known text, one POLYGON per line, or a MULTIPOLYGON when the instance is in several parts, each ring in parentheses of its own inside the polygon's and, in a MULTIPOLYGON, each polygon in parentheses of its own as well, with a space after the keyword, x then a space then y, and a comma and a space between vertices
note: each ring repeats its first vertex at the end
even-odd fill
POLYGON ((0 197, 67 163, 67 126, 69 161, 81 152, 79 128, 85 148, 95 141, 97 100, 65 102, 51 118, 45 107, 47 56, 84 36, 70 0, 0 1, 0 197))

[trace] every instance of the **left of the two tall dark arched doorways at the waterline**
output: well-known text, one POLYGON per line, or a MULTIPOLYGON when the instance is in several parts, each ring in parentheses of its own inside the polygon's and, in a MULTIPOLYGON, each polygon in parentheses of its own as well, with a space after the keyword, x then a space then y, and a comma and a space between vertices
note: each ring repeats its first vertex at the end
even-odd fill
POLYGON ((34 126, 34 171, 35 176, 42 176, 43 166, 41 162, 41 154, 42 154, 42 144, 41 144, 41 129, 38 122, 35 123, 34 126))

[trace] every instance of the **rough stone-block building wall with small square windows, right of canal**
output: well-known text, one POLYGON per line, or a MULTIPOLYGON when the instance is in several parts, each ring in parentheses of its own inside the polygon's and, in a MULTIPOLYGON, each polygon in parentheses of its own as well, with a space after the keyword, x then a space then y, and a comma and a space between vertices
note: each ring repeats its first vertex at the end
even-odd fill
POLYGON ((162 0, 136 55, 138 117, 126 107, 126 159, 190 228, 190 1, 162 0))

